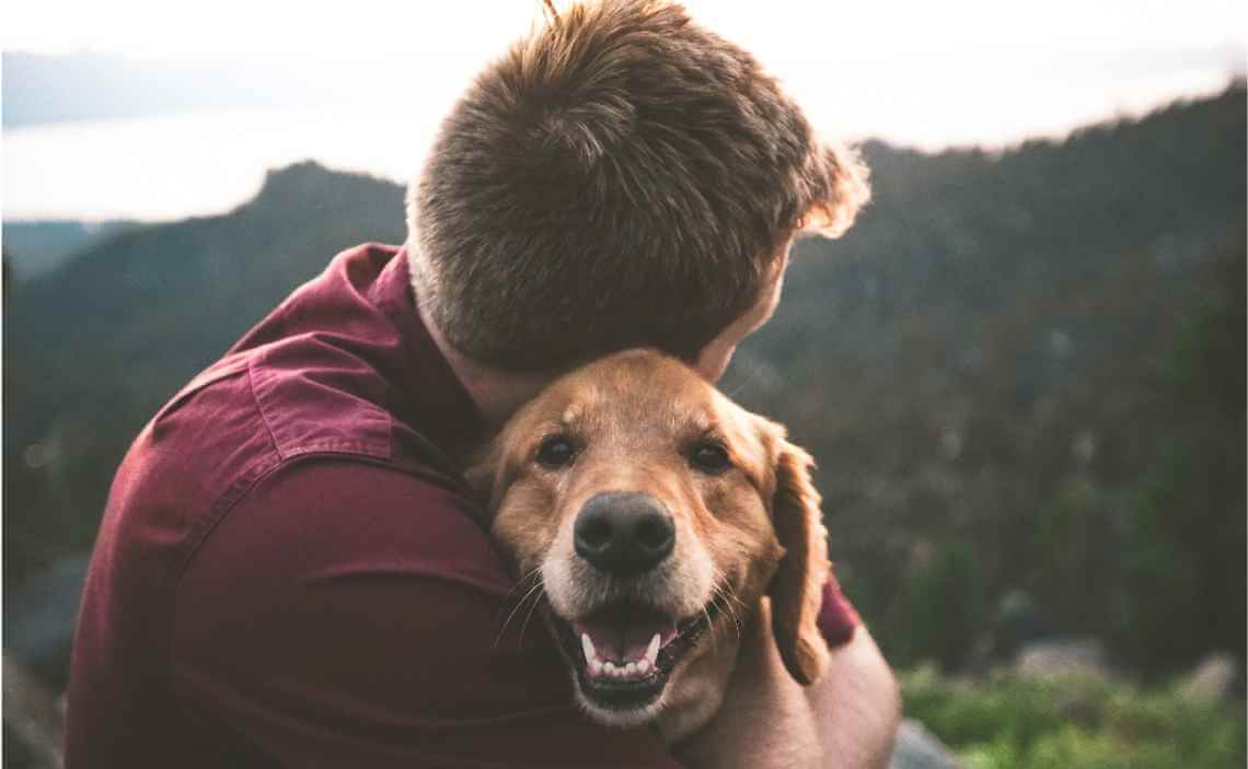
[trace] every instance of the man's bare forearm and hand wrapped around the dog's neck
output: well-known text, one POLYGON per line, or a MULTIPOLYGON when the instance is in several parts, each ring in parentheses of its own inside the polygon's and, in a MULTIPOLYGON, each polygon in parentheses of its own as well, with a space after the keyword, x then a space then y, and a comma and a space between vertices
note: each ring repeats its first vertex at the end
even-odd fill
POLYGON ((801 687, 780 661, 764 601, 743 628, 723 708, 678 758, 708 768, 885 767, 900 714, 897 683, 865 627, 832 649, 820 681, 801 687))

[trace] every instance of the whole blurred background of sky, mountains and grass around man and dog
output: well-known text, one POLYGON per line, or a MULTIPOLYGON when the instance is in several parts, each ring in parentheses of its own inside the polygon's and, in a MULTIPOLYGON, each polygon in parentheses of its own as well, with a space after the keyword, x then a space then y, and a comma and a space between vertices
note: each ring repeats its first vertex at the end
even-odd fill
MULTIPOLYGON (((51 765, 132 436, 403 183, 537 0, 11 4, 4 758, 51 765)), ((686 2, 875 201, 724 389, 820 462, 897 767, 1244 763, 1242 1, 686 2), (943 744, 941 744, 943 743, 943 744)))

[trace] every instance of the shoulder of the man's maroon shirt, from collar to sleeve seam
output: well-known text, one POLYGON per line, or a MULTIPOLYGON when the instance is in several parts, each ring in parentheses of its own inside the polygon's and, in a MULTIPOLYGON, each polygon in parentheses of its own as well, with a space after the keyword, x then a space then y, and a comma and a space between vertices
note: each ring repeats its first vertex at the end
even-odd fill
POLYGON ((475 416, 422 333, 396 253, 339 254, 182 388, 119 470, 106 540, 155 546, 176 575, 253 486, 331 457, 466 494, 448 446, 474 435, 475 416), (130 536, 154 527, 155 540, 130 536))

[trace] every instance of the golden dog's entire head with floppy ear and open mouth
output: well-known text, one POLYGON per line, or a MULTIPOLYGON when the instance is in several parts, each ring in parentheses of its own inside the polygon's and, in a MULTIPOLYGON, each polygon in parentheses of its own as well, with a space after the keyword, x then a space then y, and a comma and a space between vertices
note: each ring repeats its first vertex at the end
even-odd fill
POLYGON ((726 679, 731 657, 716 654, 735 651, 764 595, 789 671, 802 683, 822 672, 826 542, 809 466, 781 427, 685 365, 628 351, 547 388, 477 472, 522 590, 540 586, 579 702, 631 725, 699 678, 726 679))

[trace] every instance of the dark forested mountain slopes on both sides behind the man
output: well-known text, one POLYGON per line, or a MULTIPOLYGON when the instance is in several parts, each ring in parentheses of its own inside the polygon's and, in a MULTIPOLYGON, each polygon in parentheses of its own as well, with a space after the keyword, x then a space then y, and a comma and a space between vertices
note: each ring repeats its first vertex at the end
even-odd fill
MULTIPOLYGON (((998 153, 870 143, 872 206, 797 248, 724 389, 819 459, 895 662, 973 663, 1011 591, 1137 669, 1243 657, 1244 112, 1236 85, 998 153)), ((337 251, 402 238, 397 186, 302 163, 11 297, 6 596, 89 547, 166 398, 337 251)))

